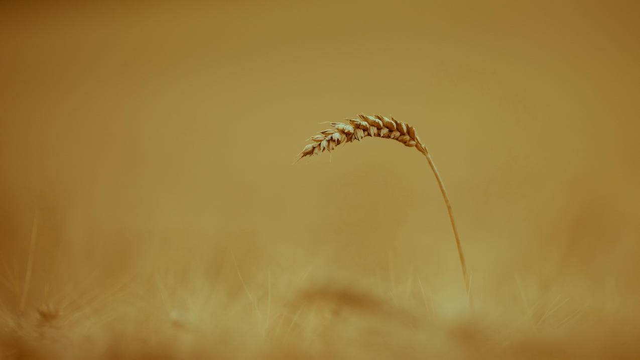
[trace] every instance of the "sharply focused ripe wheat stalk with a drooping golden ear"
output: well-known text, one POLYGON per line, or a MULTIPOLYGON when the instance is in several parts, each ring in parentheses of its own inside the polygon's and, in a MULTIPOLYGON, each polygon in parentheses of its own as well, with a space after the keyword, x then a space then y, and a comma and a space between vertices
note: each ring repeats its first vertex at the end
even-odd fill
POLYGON ((438 169, 436 168, 431 155, 427 150, 426 145, 420 141, 420 138, 415 132, 415 128, 409 124, 398 121, 394 118, 388 119, 380 115, 358 115, 357 118, 346 119, 345 122, 330 122, 332 128, 320 131, 319 135, 314 135, 309 138, 313 143, 308 144, 298 154, 299 158, 305 156, 319 155, 324 151, 331 152, 337 145, 341 143, 349 143, 354 140, 362 140, 367 136, 374 138, 387 138, 393 139, 403 143, 407 147, 415 147, 420 151, 429 163, 429 167, 433 171, 433 174, 440 186, 440 192, 447 205, 447 212, 449 213, 449 220, 451 221, 451 228, 453 229, 453 235, 456 238, 456 248, 458 249, 458 256, 460 257, 460 265, 462 267, 462 276, 465 279, 465 288, 467 290, 467 298, 469 304, 472 304, 470 293, 470 279, 467 275, 467 263, 465 263, 465 256, 462 252, 462 245, 460 244, 460 236, 458 235, 458 228, 456 227, 456 221, 453 218, 453 210, 451 209, 451 203, 447 196, 447 190, 444 188, 442 178, 438 169))

